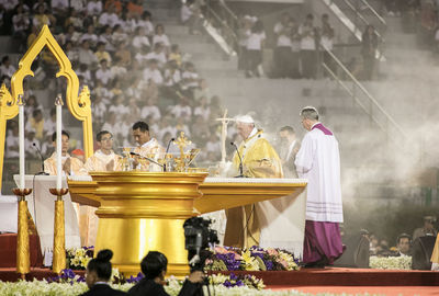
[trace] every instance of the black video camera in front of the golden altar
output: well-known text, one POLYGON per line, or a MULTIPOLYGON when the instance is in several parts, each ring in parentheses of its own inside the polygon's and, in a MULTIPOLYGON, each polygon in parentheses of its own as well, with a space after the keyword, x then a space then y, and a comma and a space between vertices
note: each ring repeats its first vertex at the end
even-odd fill
POLYGON ((218 243, 216 230, 210 228, 212 220, 192 217, 184 221, 184 249, 188 250, 189 266, 192 271, 203 271, 209 257, 209 243, 218 243))

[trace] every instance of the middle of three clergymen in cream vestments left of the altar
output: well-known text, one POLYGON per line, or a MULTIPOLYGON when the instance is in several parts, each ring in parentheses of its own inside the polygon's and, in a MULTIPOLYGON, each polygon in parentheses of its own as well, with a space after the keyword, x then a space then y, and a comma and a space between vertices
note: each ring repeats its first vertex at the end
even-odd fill
MULTIPOLYGON (((113 151, 113 135, 108 130, 101 130, 97 135, 99 149, 87 159, 83 170, 89 172, 112 172, 121 171, 121 156, 113 151)), ((79 228, 81 230, 82 246, 94 246, 98 235, 98 216, 94 214, 97 208, 81 205, 79 207, 79 228)))

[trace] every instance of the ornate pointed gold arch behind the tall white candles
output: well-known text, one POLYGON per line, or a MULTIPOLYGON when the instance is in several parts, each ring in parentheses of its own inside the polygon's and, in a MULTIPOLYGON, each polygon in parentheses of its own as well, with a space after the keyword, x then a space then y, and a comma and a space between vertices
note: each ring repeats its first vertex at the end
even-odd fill
MULTIPOLYGON (((34 76, 31 70, 32 62, 44 49, 44 47, 52 52, 59 65, 59 71, 56 77, 64 76, 67 79, 66 102, 70 113, 80 122, 82 122, 83 132, 83 149, 86 158, 91 157, 93 153, 93 134, 91 123, 91 102, 90 91, 88 87, 83 87, 79 93, 78 76, 71 69, 71 62, 66 54, 56 42, 47 25, 44 25, 38 36, 24 54, 19 62, 19 69, 12 76, 11 90, 9 92, 4 83, 0 88, 0 190, 1 180, 3 175, 3 159, 4 159, 4 140, 7 121, 15 117, 19 114, 19 106, 16 101, 19 95, 23 94, 23 79, 26 76, 34 76)), ((55 99, 54 99, 55 101, 55 99)))

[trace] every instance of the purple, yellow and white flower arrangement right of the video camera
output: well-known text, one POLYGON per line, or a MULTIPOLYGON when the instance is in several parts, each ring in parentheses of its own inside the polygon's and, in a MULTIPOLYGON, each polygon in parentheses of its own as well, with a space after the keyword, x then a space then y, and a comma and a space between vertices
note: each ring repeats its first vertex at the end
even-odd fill
POLYGON ((206 271, 296 271, 294 254, 279 249, 238 249, 216 246, 205 262, 206 271))

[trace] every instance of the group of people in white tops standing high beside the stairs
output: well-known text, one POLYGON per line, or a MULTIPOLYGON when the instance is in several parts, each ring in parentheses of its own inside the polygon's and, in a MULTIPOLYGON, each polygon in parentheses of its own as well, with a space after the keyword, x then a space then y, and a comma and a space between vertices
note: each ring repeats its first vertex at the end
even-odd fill
MULTIPOLYGON (((329 57, 323 50, 323 46, 333 49, 335 37, 327 14, 322 15, 320 26, 316 26, 313 14, 307 14, 305 21, 300 24, 289 13, 282 13, 280 21, 273 27, 273 33, 275 47, 270 77, 315 79, 320 55, 331 65, 329 57)), ((262 21, 256 16, 244 15, 240 19, 238 37, 238 68, 244 70, 248 78, 263 76, 262 50, 267 36, 262 21)))

